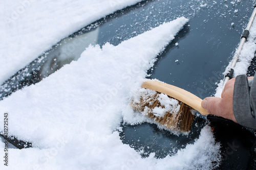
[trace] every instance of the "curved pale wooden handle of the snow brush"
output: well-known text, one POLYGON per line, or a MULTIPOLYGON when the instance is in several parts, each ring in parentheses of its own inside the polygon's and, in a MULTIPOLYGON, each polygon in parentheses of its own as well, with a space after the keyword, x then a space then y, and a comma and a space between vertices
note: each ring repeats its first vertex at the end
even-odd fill
POLYGON ((158 82, 158 81, 144 82, 144 83, 142 83, 141 87, 167 94, 170 97, 177 99, 177 100, 187 104, 191 108, 199 111, 202 115, 209 114, 207 112, 207 110, 205 110, 201 106, 202 99, 198 98, 198 96, 196 96, 182 88, 179 88, 179 87, 167 84, 167 83, 158 82))

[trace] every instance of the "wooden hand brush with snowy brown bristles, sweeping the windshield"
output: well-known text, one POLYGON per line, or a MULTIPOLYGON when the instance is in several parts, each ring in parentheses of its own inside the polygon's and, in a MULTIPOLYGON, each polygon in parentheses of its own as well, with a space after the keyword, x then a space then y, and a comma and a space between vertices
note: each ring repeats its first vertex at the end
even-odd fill
POLYGON ((131 99, 132 108, 169 130, 189 132, 195 110, 209 114, 201 106, 202 99, 179 87, 151 80, 141 87, 131 99))

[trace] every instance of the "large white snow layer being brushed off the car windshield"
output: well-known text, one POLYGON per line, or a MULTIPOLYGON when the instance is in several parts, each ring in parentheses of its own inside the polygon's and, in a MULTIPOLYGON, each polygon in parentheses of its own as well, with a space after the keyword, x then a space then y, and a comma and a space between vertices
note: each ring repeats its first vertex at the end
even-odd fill
MULTIPOLYGON (((91 45, 77 61, 1 101, 0 110, 9 112, 9 134, 34 147, 9 149, 9 168, 208 169, 212 162, 218 165, 220 145, 208 126, 194 144, 163 159, 154 154, 141 158, 116 131, 122 116, 143 121, 127 107, 130 92, 141 85, 155 57, 186 22, 177 18, 117 46, 91 45)), ((4 150, 3 142, 0 149, 4 150)))

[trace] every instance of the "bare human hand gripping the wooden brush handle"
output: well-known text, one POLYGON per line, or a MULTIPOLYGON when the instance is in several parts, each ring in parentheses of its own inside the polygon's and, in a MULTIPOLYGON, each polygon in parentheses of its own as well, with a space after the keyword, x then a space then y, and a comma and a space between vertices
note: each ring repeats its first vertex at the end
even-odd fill
MULTIPOLYGON (((248 80, 253 79, 253 77, 248 77, 248 80)), ((230 120, 233 120, 233 122, 237 122, 236 117, 234 117, 233 113, 233 91, 234 91, 234 81, 236 79, 230 79, 222 93, 221 98, 217 97, 208 97, 205 98, 201 106, 206 109, 210 114, 221 116, 230 120)))

